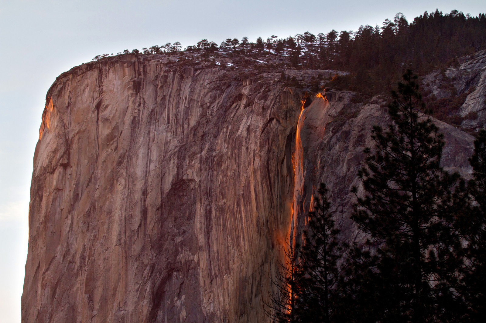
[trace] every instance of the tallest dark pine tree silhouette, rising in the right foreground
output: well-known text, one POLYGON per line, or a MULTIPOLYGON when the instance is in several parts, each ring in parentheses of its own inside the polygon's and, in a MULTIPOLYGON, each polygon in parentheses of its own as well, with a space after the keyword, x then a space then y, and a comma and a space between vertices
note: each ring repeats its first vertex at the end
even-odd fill
MULTIPOLYGON (((462 195, 452 192, 459 175, 440 167, 443 136, 412 71, 392 97, 392 124, 387 131, 373 127, 376 153, 364 151, 364 196, 352 219, 369 238, 364 250, 351 253, 354 266, 342 290, 361 322, 448 320, 457 310, 454 284, 461 265, 453 224, 462 195)), ((352 191, 358 194, 356 187, 352 191)))

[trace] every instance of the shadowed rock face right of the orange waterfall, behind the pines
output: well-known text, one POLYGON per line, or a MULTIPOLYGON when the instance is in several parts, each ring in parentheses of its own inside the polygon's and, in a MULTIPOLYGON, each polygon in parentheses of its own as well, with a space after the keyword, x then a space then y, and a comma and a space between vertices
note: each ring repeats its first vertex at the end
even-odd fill
MULTIPOLYGON (((358 194, 363 193, 361 181, 357 177, 365 158, 363 148, 371 147, 373 150, 375 143, 371 139, 372 126, 386 128, 390 118, 386 102, 381 97, 372 98, 364 106, 349 108, 349 96, 350 93, 346 92, 333 95, 328 113, 321 118, 306 120, 307 127, 303 130, 306 139, 302 140, 305 172, 302 179, 303 190, 295 202, 301 206, 297 215, 297 232, 300 233, 305 228, 305 214, 312 210, 315 188, 320 182, 325 182, 330 194, 330 208, 334 212, 336 225, 342 230, 342 239, 364 242, 364 235, 349 219, 356 202, 355 195, 350 190, 352 186, 356 186, 358 194), (326 123, 322 122, 326 120, 326 123)), ((313 104, 309 108, 312 107, 313 104)), ((474 138, 447 123, 439 120, 434 123, 444 134, 446 142, 441 165, 445 170, 459 172, 469 179, 472 169, 468 158, 472 154, 474 138)))

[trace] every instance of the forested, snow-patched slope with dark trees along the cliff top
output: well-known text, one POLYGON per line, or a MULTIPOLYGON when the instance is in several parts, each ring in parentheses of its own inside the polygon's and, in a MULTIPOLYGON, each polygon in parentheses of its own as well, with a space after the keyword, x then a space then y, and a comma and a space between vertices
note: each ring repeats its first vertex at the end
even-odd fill
MULTIPOLYGON (((388 93, 405 69, 418 75, 457 65, 458 58, 486 48, 485 14, 471 16, 457 10, 443 14, 424 12, 412 22, 398 13, 382 26, 361 26, 358 31, 331 30, 278 38, 259 37, 251 42, 227 38, 220 45, 202 39, 185 50, 179 42, 154 45, 135 54, 174 55, 186 64, 208 63, 222 68, 254 67, 281 70, 332 69, 350 74, 334 80, 334 87, 364 94, 388 93)), ((128 49, 117 53, 130 53, 128 49)), ((113 55, 113 54, 111 54, 113 55)), ((100 60, 109 54, 97 55, 100 60)))

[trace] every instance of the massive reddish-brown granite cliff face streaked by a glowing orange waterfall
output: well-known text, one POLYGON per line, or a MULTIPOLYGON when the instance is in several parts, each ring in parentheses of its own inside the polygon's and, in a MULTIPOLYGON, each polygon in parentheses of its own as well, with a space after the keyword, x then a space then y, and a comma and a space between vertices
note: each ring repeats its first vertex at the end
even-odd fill
MULTIPOLYGON (((379 98, 357 107, 337 91, 301 115, 279 77, 161 55, 58 77, 35 148, 22 322, 270 322, 271 277, 313 188, 328 183, 354 238, 349 188, 388 121, 379 98)), ((438 125, 444 166, 467 175, 473 138, 438 125)))

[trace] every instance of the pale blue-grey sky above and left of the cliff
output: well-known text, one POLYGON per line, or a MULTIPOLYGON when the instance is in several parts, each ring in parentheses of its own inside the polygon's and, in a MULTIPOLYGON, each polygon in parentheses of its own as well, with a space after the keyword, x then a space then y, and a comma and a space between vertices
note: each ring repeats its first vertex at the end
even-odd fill
POLYGON ((59 74, 123 49, 356 31, 435 8, 486 11, 484 0, 0 0, 0 323, 20 322, 32 160, 45 94, 59 74))

